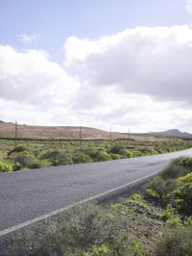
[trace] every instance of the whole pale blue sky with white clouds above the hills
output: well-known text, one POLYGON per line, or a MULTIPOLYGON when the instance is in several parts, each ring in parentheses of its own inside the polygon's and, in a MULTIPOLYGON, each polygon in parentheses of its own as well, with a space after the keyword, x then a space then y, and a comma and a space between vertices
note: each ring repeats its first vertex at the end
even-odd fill
POLYGON ((192 132, 192 0, 0 0, 0 119, 192 132))

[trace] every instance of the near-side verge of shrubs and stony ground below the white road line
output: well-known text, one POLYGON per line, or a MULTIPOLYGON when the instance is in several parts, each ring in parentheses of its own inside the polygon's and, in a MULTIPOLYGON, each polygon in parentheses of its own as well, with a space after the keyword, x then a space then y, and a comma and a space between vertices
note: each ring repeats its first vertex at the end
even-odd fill
POLYGON ((0 255, 192 255, 192 158, 178 159, 140 192, 75 207, 15 234, 0 255))

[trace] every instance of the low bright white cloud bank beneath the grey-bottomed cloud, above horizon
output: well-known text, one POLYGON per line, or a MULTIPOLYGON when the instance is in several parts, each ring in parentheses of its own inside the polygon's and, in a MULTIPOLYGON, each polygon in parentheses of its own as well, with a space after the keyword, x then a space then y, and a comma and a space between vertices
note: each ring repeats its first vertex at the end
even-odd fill
MULTIPOLYGON (((86 101, 75 107, 84 125, 97 125, 107 130, 111 126, 113 131, 122 132, 127 132, 129 127, 132 132, 161 131, 174 127, 186 129, 185 122, 191 118, 191 109, 183 103, 157 102, 147 95, 98 88, 97 97, 101 101, 95 104, 94 95, 93 91, 86 97, 86 101, 93 103, 92 107, 87 107, 86 101)), ((190 131, 191 127, 187 129, 190 131)))

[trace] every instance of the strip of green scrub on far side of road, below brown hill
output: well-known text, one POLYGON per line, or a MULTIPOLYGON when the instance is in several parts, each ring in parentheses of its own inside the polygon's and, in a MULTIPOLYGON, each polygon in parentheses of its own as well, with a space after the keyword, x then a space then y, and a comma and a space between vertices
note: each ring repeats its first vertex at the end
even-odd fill
POLYGON ((0 173, 20 169, 63 166, 178 151, 192 141, 18 141, 0 140, 0 173))

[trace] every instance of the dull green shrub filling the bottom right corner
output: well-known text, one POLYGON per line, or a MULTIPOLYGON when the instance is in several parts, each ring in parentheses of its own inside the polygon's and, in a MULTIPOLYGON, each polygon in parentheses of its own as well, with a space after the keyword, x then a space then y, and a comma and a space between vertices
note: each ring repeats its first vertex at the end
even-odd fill
POLYGON ((156 256, 192 255, 192 226, 171 229, 164 232, 156 245, 156 256))

